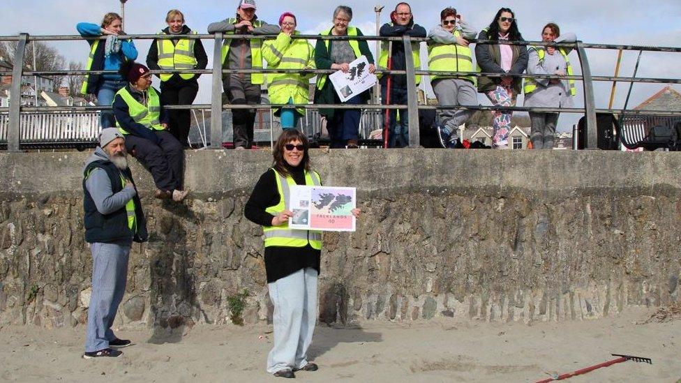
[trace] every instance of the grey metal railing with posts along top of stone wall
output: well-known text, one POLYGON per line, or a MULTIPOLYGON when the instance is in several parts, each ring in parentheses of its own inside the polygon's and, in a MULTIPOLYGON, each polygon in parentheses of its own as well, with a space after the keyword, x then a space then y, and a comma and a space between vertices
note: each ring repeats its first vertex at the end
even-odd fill
MULTIPOLYGON (((223 46, 223 39, 232 38, 251 38, 250 35, 226 35, 223 33, 212 34, 202 34, 202 35, 185 35, 183 38, 196 38, 196 39, 211 39, 214 40, 214 50, 213 50, 213 66, 211 69, 202 70, 183 70, 183 73, 201 73, 201 74, 211 74, 211 103, 210 104, 195 104, 195 105, 168 105, 168 109, 190 109, 190 110, 211 110, 211 122, 210 122, 210 144, 213 148, 221 147, 222 142, 222 128, 223 128, 223 110, 235 110, 235 109, 272 109, 280 107, 296 107, 304 110, 311 110, 315 114, 316 110, 323 108, 335 108, 335 109, 357 109, 356 105, 345 105, 345 104, 260 104, 260 105, 242 105, 242 104, 230 104, 223 105, 222 93, 223 93, 223 75, 230 73, 311 73, 314 75, 329 75, 336 72, 336 70, 320 70, 320 69, 305 69, 305 70, 283 70, 283 69, 249 69, 249 70, 236 70, 236 69, 223 69, 221 62, 221 49, 223 46)), ((262 38, 275 38, 276 36, 262 36, 262 38)), ((379 37, 379 36, 318 36, 318 35, 296 35, 293 38, 301 38, 308 40, 380 40, 380 41, 393 41, 398 43, 403 43, 405 49, 405 61, 406 70, 376 70, 377 74, 393 74, 393 75, 406 75, 407 77, 407 89, 409 89, 407 96, 407 105, 376 105, 376 104, 366 104, 361 105, 363 110, 374 110, 380 112, 386 109, 407 109, 408 110, 408 128, 409 128, 409 146, 417 147, 419 145, 419 110, 426 109, 456 109, 456 110, 498 110, 500 107, 497 106, 461 106, 461 105, 418 105, 417 102, 417 85, 415 82, 416 75, 456 75, 460 77, 493 77, 500 78, 509 76, 509 74, 500 73, 477 73, 477 72, 439 72, 433 70, 417 70, 414 68, 414 62, 412 59, 412 45, 414 42, 426 41, 425 38, 410 38, 409 36, 403 37, 379 37)), ((17 49, 15 51, 14 57, 14 68, 11 73, 0 72, 0 75, 11 74, 13 76, 13 82, 11 84, 11 93, 13 95, 20 94, 20 79, 22 76, 50 76, 50 75, 85 75, 87 73, 115 73, 113 70, 52 70, 52 71, 40 71, 40 70, 23 70, 22 63, 24 61, 24 53, 26 50, 26 45, 29 41, 54 41, 54 40, 103 40, 105 36, 96 36, 92 38, 83 38, 82 36, 29 36, 27 33, 20 33, 19 36, 0 36, 0 41, 16 41, 17 49)), ((133 38, 133 39, 164 39, 173 38, 171 35, 129 35, 123 36, 123 38, 133 38)), ((500 41, 490 41, 490 40, 473 40, 472 43, 504 43, 500 41)), ((568 47, 576 50, 578 54, 579 65, 581 66, 581 75, 530 75, 523 73, 521 75, 510 75, 512 77, 522 77, 522 78, 536 78, 536 79, 559 79, 559 80, 577 80, 581 81, 583 84, 583 94, 584 94, 584 106, 583 107, 573 107, 573 108, 537 108, 537 107, 503 107, 504 110, 509 111, 535 111, 535 112, 568 112, 568 113, 579 113, 584 114, 586 117, 586 144, 587 149, 596 149, 597 145, 597 130, 596 130, 596 114, 597 113, 615 113, 620 114, 624 110, 620 109, 597 109, 595 107, 594 101, 594 82, 629 82, 629 83, 657 83, 657 84, 680 84, 681 80, 671 79, 671 78, 632 78, 632 77, 613 77, 613 76, 594 76, 591 73, 589 60, 586 54, 587 49, 597 49, 597 50, 634 50, 639 52, 672 52, 680 53, 681 47, 659 47, 659 46, 638 46, 638 45, 605 45, 605 44, 590 44, 577 41, 576 43, 544 43, 541 41, 523 41, 523 42, 509 42, 511 45, 553 45, 556 47, 568 47)), ((172 73, 172 70, 152 70, 151 73, 172 73)), ((22 140, 26 140, 26 136, 22 134, 22 119, 21 114, 30 112, 88 112, 95 110, 106 110, 110 107, 103 106, 68 106, 68 107, 31 107, 22 106, 20 97, 11 97, 9 107, 0 107, 0 114, 3 112, 8 113, 8 127, 7 127, 7 147, 10 151, 19 151, 22 149, 22 140)), ((376 112, 373 112, 374 114, 376 112)), ((659 117, 681 117, 681 112, 673 111, 641 111, 641 110, 627 110, 627 115, 639 115, 645 114, 647 116, 659 116, 659 117)), ((378 127, 377 127, 378 128, 378 127)))

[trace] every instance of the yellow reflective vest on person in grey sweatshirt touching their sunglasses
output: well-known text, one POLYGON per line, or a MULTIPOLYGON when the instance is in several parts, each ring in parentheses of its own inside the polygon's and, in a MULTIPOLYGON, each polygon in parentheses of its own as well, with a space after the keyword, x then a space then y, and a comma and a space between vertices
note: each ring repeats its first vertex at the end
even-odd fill
MULTIPOLYGON (((460 37, 461 31, 455 30, 460 37)), ((431 75, 431 81, 438 78, 461 78, 476 83, 475 76, 456 75, 456 72, 473 72, 473 55, 469 47, 458 44, 428 43, 428 70, 454 72, 452 75, 431 75)))

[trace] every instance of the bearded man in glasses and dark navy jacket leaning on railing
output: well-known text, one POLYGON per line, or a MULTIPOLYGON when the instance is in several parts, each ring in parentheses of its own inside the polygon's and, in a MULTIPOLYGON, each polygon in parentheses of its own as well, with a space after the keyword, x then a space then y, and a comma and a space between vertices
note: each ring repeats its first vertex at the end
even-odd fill
MULTIPOLYGON (((407 3, 398 3, 395 10, 390 13, 390 21, 382 25, 379 35, 389 37, 426 37, 426 29, 419 24, 414 24, 412 7, 407 3)), ((420 44, 412 43, 412 58, 414 68, 421 69, 420 44)), ((407 70, 404 44, 399 41, 381 41, 381 51, 378 57, 379 68, 391 70, 407 70), (388 50, 390 49, 390 52, 388 50)), ((381 98, 384 105, 407 104, 407 76, 386 75, 381 80, 381 98)), ((421 83, 421 75, 416 76, 417 87, 421 83)), ((414 90, 416 91, 416 90, 414 90)), ((384 126, 388 125, 388 147, 401 148, 409 146, 409 114, 407 109, 400 110, 400 123, 397 123, 397 110, 386 110, 383 114, 384 126), (385 121, 387 119, 387 121, 385 121)))

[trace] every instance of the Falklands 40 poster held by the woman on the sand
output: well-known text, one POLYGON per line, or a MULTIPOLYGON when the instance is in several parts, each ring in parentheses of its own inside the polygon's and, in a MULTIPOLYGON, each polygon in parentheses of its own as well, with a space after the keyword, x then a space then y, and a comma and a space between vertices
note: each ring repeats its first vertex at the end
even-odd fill
POLYGON ((296 185, 290 191, 291 229, 354 232, 352 209, 357 206, 357 189, 296 185))

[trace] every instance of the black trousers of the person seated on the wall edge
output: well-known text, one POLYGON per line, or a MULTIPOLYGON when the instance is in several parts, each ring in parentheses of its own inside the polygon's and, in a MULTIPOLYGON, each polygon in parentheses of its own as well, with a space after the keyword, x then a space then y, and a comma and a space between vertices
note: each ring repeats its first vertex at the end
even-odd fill
POLYGON ((126 149, 151 173, 156 188, 182 190, 184 183, 184 149, 167 130, 154 130, 158 144, 136 135, 126 135, 126 149))

